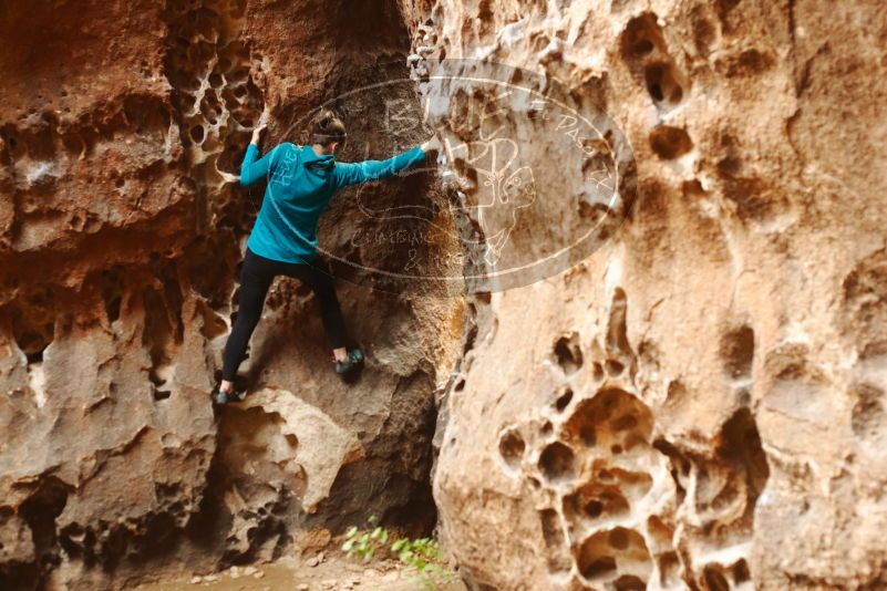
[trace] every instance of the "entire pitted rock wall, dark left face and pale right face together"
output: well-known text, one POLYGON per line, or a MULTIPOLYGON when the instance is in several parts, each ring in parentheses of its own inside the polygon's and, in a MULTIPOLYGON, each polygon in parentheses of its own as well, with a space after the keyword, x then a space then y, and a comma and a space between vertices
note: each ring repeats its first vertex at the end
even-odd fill
MULTIPOLYGON (((434 499, 474 588, 887 584, 881 3, 38 0, 0 6, 0 39, 3 589, 124 588, 320 547, 371 514, 430 527, 434 396, 460 351, 434 499), (525 68, 607 112, 637 166, 618 231, 463 310, 355 272, 404 251, 354 245, 385 221, 345 194, 321 240, 354 263, 361 380, 333 379, 316 302, 281 280, 243 367, 254 395, 214 415, 261 195, 229 176, 252 124, 267 111, 267 142, 299 141, 319 104, 434 58, 525 68)), ((471 141, 466 95, 419 86, 444 106, 429 123, 471 141)), ((421 118, 394 87, 337 104, 360 139, 344 159, 424 138, 378 133, 394 98, 421 118)), ((497 121, 556 164, 514 245, 597 219, 535 124, 497 121)), ((371 196, 453 199, 430 180, 371 196)))

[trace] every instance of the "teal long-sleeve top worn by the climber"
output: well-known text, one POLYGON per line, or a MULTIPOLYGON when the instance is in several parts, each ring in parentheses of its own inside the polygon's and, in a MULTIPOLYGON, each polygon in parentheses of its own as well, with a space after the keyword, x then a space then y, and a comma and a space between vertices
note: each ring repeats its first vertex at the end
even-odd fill
POLYGON ((395 175, 424 159, 416 146, 386 160, 340 163, 332 154, 318 156, 311 146, 288 143, 259 158, 259 148, 250 144, 240 184, 267 178, 268 185, 247 247, 266 259, 309 262, 317 256, 320 216, 338 189, 395 175))

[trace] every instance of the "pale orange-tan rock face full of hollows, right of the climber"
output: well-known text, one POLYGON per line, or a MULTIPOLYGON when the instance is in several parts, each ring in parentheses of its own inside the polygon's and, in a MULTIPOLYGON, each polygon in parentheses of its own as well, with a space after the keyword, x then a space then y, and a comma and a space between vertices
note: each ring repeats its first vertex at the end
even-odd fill
MULTIPOLYGON (((463 571, 499 590, 887 584, 887 8, 425 4, 424 56, 557 79, 637 162, 597 252, 472 304, 435 473, 463 571)), ((516 98, 494 107, 528 158, 557 153, 516 98)), ((439 111, 450 136, 481 127, 439 111)), ((550 183, 571 219, 576 191, 550 183)), ((518 239, 564 227, 522 215, 518 239)))

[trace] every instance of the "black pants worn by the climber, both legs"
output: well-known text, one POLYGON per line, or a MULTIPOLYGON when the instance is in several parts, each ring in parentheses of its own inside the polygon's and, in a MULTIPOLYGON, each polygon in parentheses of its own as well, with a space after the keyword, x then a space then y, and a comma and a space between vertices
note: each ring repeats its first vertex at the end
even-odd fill
POLYGON ((327 262, 318 257, 310 263, 280 262, 260 257, 247 248, 240 269, 240 308, 234 321, 231 335, 225 343, 221 379, 234 381, 237 367, 244 361, 249 338, 256 329, 265 305, 265 296, 275 277, 285 274, 298 279, 320 302, 320 318, 332 349, 345 345, 345 326, 339 299, 336 297, 332 273, 327 262))

